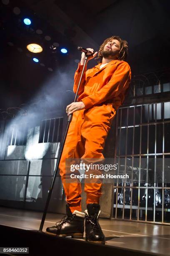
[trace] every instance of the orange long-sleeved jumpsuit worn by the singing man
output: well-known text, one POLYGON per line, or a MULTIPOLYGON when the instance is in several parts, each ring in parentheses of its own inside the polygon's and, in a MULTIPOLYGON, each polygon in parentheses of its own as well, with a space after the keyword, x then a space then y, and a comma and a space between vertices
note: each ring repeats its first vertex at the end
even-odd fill
MULTIPOLYGON (((80 64, 75 72, 73 91, 76 92, 82 73, 80 64)), ((130 83, 130 66, 125 61, 112 60, 100 69, 100 64, 86 69, 80 84, 78 99, 85 109, 73 113, 60 161, 60 175, 70 210, 81 211, 81 184, 68 182, 65 159, 104 159, 102 154, 105 139, 110 130, 116 110, 122 104, 130 83)), ((93 170, 92 170, 93 172, 93 170)), ((70 172, 71 173, 71 172, 70 172)), ((89 172, 90 173, 90 172, 89 172)), ((85 181, 88 203, 99 203, 102 182, 85 181)))

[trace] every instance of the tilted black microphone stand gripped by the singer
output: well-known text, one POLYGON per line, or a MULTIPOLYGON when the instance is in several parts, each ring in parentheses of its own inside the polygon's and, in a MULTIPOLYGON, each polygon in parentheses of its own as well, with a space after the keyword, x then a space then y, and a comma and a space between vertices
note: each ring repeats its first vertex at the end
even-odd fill
MULTIPOLYGON (((86 65, 87 59, 88 59, 88 56, 86 55, 85 56, 85 63, 84 63, 83 69, 82 69, 82 74, 81 74, 80 81, 79 81, 79 84, 78 84, 78 87, 77 87, 77 92, 76 92, 76 95, 75 95, 74 102, 76 102, 76 100, 77 100, 77 94, 78 94, 78 90, 79 90, 80 83, 81 83, 81 80, 82 80, 82 75, 83 75, 84 70, 85 70, 85 65, 86 65)), ((40 228, 39 228, 40 232, 42 232, 42 228, 43 228, 43 225, 44 225, 44 222, 45 222, 45 217, 46 217, 46 214, 47 214, 48 205, 50 203, 52 189, 54 187, 55 178, 57 176, 57 170, 58 170, 58 167, 59 167, 59 164, 60 164, 60 160, 61 160, 61 156, 62 156, 62 151, 63 151, 64 145, 65 145, 65 140, 66 140, 66 137, 67 137, 67 133, 68 133, 68 129, 69 129, 71 120, 72 120, 72 114, 70 114, 68 116, 68 119, 67 119, 67 127, 65 129, 65 134, 64 134, 64 138, 62 140, 62 144, 61 144, 61 148, 60 148, 60 153, 59 153, 59 156, 58 156, 58 159, 57 159, 57 164, 55 166, 54 176, 53 176, 53 179, 52 179, 52 182, 51 182, 50 189, 48 191, 48 197, 47 197, 47 201, 46 201, 46 204, 45 204, 44 212, 43 212, 43 215, 42 215, 42 220, 41 220, 41 224, 40 224, 40 228)))

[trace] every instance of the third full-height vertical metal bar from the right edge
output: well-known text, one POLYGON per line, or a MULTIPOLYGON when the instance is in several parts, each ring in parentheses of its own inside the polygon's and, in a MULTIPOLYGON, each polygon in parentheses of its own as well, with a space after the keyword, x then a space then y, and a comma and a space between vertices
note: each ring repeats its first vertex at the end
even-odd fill
MULTIPOLYGON (((152 104, 151 104, 152 110, 152 104)), ((152 113, 152 111, 151 111, 152 113)), ((145 207, 145 221, 147 221, 147 210, 148 210, 148 163, 149 163, 149 118, 150 118, 150 105, 148 104, 148 125, 147 125, 147 167, 146 167, 146 207, 145 207)))

